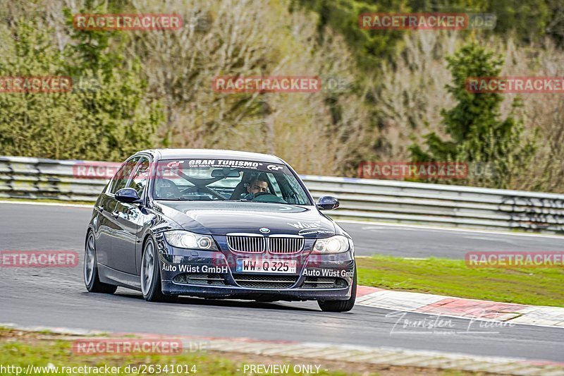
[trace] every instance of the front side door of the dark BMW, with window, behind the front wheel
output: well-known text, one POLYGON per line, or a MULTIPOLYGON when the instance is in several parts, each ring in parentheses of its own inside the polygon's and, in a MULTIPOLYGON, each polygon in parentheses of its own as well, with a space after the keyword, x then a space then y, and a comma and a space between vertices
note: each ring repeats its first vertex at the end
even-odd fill
MULTIPOLYGON (((133 174, 126 187, 137 190, 140 198, 144 197, 145 186, 149 175, 150 160, 148 157, 140 157, 135 166, 133 174)), ((120 272, 137 274, 135 263, 135 247, 140 241, 138 231, 140 221, 143 217, 142 205, 139 203, 119 202, 115 210, 116 233, 112 238, 112 256, 114 257, 114 268, 120 272)))

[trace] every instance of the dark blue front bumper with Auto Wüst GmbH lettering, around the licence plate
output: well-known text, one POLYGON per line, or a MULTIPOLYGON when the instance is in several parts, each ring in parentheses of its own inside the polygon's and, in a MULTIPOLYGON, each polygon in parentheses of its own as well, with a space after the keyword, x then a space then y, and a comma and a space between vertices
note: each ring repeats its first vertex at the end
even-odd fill
POLYGON ((171 247, 164 240, 157 243, 162 291, 168 295, 257 301, 350 298, 355 272, 353 250, 336 255, 312 255, 305 250, 300 255, 276 257, 234 254, 228 250, 188 250, 171 247), (236 272, 236 260, 247 257, 294 259, 297 261, 296 273, 236 272))

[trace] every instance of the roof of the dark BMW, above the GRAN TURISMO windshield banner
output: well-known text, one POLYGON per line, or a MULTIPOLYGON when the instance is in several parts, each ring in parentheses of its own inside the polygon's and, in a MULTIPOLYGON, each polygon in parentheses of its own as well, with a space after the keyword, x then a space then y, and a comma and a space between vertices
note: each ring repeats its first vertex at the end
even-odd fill
POLYGON ((140 153, 157 154, 159 159, 239 159, 243 161, 259 161, 268 163, 284 163, 282 159, 272 154, 253 152, 240 152, 236 150, 216 149, 150 149, 142 150, 140 153))

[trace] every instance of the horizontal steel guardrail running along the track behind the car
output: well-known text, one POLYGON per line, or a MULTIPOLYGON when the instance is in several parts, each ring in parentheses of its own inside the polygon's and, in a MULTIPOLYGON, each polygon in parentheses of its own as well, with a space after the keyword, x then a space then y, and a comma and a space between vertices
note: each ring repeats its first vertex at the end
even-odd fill
MULTIPOLYGON (((105 179, 76 178, 100 162, 0 157, 0 198, 93 201, 105 179)), ((302 176, 312 195, 341 201, 331 217, 564 233, 564 195, 331 176, 302 176)), ((329 214, 328 213, 328 214, 329 214)))

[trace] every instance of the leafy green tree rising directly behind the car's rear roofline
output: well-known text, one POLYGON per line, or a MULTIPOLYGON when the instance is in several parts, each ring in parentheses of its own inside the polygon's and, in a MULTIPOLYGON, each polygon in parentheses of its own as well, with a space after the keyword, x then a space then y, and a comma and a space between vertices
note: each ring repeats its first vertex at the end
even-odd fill
MULTIPOLYGON (((74 30, 71 11, 65 13, 69 30, 74 30)), ((164 114, 161 104, 147 95, 139 57, 123 56, 127 34, 74 30, 71 37, 66 71, 77 83, 86 83, 76 87, 75 95, 85 109, 85 126, 97 127, 99 158, 121 161, 137 150, 155 147, 164 114)))

